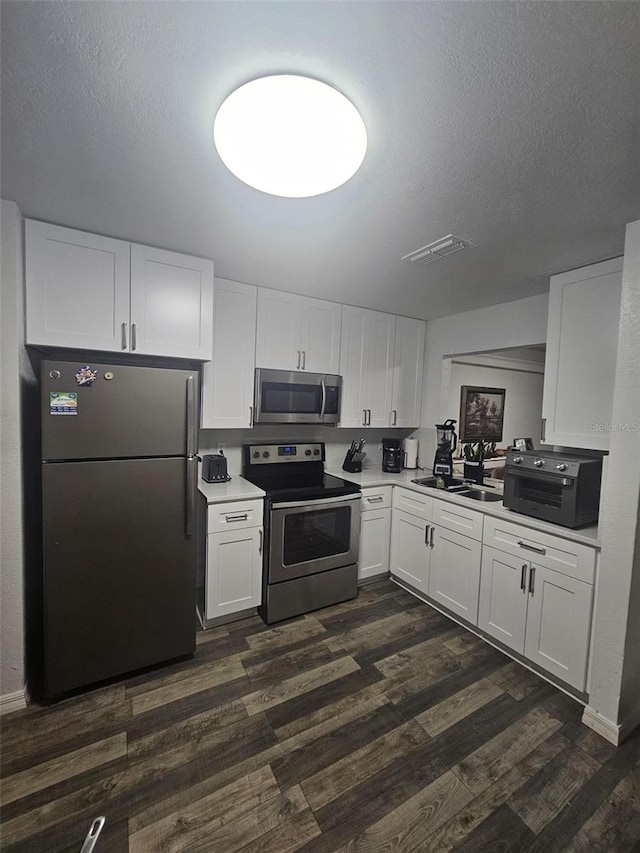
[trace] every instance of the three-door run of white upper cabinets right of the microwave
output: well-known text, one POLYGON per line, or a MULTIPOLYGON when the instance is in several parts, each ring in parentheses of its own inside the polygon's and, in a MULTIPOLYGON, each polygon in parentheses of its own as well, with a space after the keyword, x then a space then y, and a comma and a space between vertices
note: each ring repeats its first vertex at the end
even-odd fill
POLYGON ((425 323, 342 309, 340 426, 420 425, 425 323))

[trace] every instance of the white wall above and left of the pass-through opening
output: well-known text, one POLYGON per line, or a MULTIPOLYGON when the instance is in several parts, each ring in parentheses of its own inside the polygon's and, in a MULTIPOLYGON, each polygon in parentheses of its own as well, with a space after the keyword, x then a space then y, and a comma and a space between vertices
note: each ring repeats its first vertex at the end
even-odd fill
MULTIPOLYGON (((424 365, 420 439, 421 465, 431 466, 435 452, 433 425, 455 417, 447 411, 449 374, 445 356, 546 343, 549 295, 542 293, 490 308, 429 320, 424 365), (423 461, 424 460, 424 461, 423 461)), ((459 407, 458 407, 459 408, 459 407)))

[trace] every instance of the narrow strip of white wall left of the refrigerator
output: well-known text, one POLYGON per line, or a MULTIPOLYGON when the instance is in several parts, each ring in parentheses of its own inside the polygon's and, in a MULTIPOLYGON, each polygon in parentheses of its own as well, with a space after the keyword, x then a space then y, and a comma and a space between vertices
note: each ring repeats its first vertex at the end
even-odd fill
POLYGON ((0 711, 24 706, 20 362, 22 220, 2 201, 0 267, 0 711))

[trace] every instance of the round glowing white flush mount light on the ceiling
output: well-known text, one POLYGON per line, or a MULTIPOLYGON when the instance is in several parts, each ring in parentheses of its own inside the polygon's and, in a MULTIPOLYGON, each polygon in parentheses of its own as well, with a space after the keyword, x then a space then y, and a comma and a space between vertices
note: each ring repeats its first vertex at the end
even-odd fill
POLYGON ((351 101, 292 74, 260 77, 232 92, 218 110, 213 139, 237 178, 287 198, 341 186, 367 150, 367 130, 351 101))

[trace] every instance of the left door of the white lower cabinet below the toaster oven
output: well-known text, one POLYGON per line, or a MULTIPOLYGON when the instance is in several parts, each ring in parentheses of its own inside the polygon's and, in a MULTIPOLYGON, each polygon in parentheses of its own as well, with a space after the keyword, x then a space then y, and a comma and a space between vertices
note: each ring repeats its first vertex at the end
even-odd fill
POLYGON ((482 549, 478 628, 522 654, 527 619, 526 560, 482 549))

